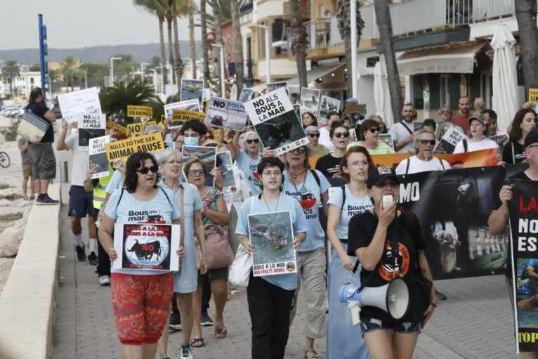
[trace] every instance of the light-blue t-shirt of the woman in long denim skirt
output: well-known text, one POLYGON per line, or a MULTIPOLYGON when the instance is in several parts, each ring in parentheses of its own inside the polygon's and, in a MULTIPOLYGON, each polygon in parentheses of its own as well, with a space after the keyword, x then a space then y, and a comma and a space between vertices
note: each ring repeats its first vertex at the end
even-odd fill
POLYGON ((346 189, 346 202, 343 203, 343 207, 341 187, 335 188, 334 192, 332 192, 331 197, 329 197, 329 200, 327 201, 327 204, 333 204, 334 206, 341 209, 340 221, 338 223, 338 228, 336 228, 336 234, 341 240, 348 239, 348 225, 351 217, 355 216, 355 214, 360 214, 374 207, 372 205, 372 200, 370 200, 370 197, 354 197, 349 190, 349 185, 345 185, 344 188, 346 189))

